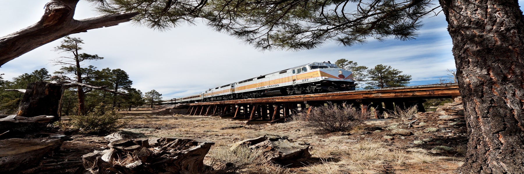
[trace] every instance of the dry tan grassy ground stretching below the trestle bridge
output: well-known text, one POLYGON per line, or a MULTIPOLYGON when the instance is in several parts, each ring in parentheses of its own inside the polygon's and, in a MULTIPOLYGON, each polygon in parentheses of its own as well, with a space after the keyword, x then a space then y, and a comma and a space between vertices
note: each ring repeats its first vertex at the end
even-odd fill
MULTIPOLYGON (((170 113, 166 112, 165 108, 155 110, 141 108, 119 111, 119 113, 129 120, 123 129, 125 131, 157 137, 176 136, 213 141, 216 144, 210 153, 224 150, 237 141, 265 134, 288 136, 293 141, 310 143, 312 157, 297 165, 266 166, 271 169, 265 173, 454 173, 462 164, 467 144, 463 124, 456 124, 436 132, 424 132, 427 127, 445 124, 432 119, 436 116, 432 116, 431 113, 422 114, 425 116, 421 117, 425 118, 419 118, 418 122, 423 121, 424 125, 416 129, 410 127, 408 130, 413 134, 409 136, 392 135, 391 130, 388 129, 377 131, 380 129, 377 127, 384 128, 406 122, 399 119, 368 120, 350 132, 317 134, 314 130, 305 127, 303 121, 245 124, 244 120, 187 115, 183 114, 183 110, 170 113), (244 127, 221 130, 222 127, 230 125, 244 127), (385 140, 384 136, 387 135, 391 135, 394 139, 385 140), (417 140, 424 140, 424 143, 414 144, 413 142, 417 140), (452 150, 435 150, 437 146, 451 147, 452 150)), ((103 136, 74 135, 72 138, 73 141, 64 142, 59 153, 43 160, 40 168, 23 173, 39 173, 42 171, 42 165, 59 161, 79 161, 82 155, 101 150, 101 147, 107 145, 103 136)), ((209 163, 206 160, 209 159, 206 157, 204 164, 209 163)), ((69 168, 47 173, 75 173, 78 167, 79 164, 71 165, 69 168)), ((261 173, 249 172, 249 169, 243 171, 261 173)))

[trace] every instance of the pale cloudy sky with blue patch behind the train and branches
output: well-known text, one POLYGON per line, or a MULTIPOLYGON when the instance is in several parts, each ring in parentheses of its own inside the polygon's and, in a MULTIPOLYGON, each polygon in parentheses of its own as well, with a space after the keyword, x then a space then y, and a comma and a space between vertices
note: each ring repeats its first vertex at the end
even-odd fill
MULTIPOLYGON (((35 24, 48 1, 0 0, 0 37, 35 24)), ((99 16, 91 5, 81 1, 75 19, 99 16)), ((414 40, 368 43, 344 47, 334 42, 303 51, 260 52, 252 45, 213 31, 203 24, 181 25, 169 31, 156 31, 132 22, 118 26, 72 34, 84 40, 83 52, 105 59, 86 62, 98 69, 120 68, 133 80, 133 87, 147 92, 157 90, 163 99, 198 94, 209 88, 238 82, 247 78, 277 72, 311 62, 346 59, 358 65, 388 65, 402 74, 412 76, 409 86, 428 85, 447 78, 446 69, 454 70, 452 42, 442 13, 423 19, 424 26, 414 40)), ((50 60, 67 56, 53 47, 59 39, 32 50, 0 67, 0 74, 10 80, 36 69, 50 73, 60 66, 50 60)))

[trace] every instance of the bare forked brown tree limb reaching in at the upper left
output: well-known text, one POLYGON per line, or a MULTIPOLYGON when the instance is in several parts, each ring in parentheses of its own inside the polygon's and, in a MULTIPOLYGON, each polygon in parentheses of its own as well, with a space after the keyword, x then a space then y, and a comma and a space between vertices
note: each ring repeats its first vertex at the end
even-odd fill
POLYGON ((73 19, 74 10, 79 1, 51 0, 46 4, 45 13, 36 24, 0 38, 0 66, 43 44, 69 34, 116 26, 138 15, 138 13, 126 13, 75 20, 73 19))

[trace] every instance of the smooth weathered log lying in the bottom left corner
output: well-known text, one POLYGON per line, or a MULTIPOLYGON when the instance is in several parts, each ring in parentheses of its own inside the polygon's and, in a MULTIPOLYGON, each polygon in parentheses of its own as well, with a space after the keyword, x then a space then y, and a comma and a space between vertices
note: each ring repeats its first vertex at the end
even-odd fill
POLYGON ((0 173, 18 173, 39 164, 46 154, 58 150, 63 139, 21 139, 0 140, 0 173))

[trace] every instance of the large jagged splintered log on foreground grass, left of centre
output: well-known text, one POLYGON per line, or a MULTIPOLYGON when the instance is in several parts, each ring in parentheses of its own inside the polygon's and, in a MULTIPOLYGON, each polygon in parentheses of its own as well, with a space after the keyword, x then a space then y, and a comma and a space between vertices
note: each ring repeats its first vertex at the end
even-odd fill
POLYGON ((213 144, 183 137, 122 139, 82 159, 91 173, 200 173, 213 144))

